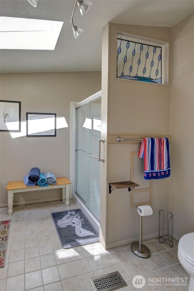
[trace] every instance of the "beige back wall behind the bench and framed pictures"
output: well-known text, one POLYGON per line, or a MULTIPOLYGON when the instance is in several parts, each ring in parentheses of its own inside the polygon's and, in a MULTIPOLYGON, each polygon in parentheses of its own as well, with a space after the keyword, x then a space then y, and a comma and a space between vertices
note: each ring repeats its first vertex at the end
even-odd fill
MULTIPOLYGON (((68 124, 57 129, 56 137, 12 138, 9 132, 1 132, 1 206, 7 203, 7 182, 22 180, 32 167, 69 179, 70 101, 81 101, 100 90, 101 72, 1 74, 1 100, 21 101, 22 121, 26 112, 43 112, 64 116, 68 124)), ((60 196, 60 189, 25 192, 15 194, 14 201, 60 196)))

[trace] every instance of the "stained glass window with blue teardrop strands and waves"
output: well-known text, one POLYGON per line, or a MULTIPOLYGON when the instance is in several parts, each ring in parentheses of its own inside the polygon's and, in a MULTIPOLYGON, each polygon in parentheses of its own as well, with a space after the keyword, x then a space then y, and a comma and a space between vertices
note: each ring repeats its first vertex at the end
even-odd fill
MULTIPOLYGON (((162 45, 130 40, 122 35, 117 37, 117 71, 116 77, 150 83, 166 83, 162 80, 162 45)), ((144 39, 142 39, 144 40, 144 39)))

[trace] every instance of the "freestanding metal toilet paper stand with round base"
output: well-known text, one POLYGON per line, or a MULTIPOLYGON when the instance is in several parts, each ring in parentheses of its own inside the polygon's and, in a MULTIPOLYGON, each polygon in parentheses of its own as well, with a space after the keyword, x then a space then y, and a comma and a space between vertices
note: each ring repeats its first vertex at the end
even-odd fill
MULTIPOLYGON (((140 205, 138 205, 140 206, 140 205)), ((136 208, 139 210, 140 213, 142 213, 142 210, 140 208, 136 208)), ((132 243, 131 245, 132 252, 141 258, 148 258, 150 256, 150 251, 147 248, 147 246, 142 244, 142 216, 139 215, 139 242, 132 243)))

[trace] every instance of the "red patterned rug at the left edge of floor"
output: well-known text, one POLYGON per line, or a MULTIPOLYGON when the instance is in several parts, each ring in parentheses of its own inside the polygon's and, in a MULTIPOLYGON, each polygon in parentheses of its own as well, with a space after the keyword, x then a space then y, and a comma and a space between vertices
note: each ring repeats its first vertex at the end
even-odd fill
POLYGON ((5 266, 10 223, 11 219, 0 221, 0 268, 5 266))

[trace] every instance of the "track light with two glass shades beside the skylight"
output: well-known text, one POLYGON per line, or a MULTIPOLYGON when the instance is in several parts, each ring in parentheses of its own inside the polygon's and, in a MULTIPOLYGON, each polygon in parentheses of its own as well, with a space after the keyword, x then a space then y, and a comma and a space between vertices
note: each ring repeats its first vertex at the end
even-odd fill
POLYGON ((73 13, 72 13, 72 17, 71 17, 70 22, 72 24, 74 37, 78 38, 80 36, 80 34, 83 32, 83 29, 81 29, 81 28, 79 28, 79 27, 77 27, 76 25, 73 24, 73 15, 74 15, 74 12, 75 12, 76 4, 78 4, 80 13, 83 16, 88 12, 89 8, 92 6, 92 2, 91 1, 85 1, 85 0, 76 0, 75 1, 75 5, 74 5, 74 8, 73 8, 73 13))

